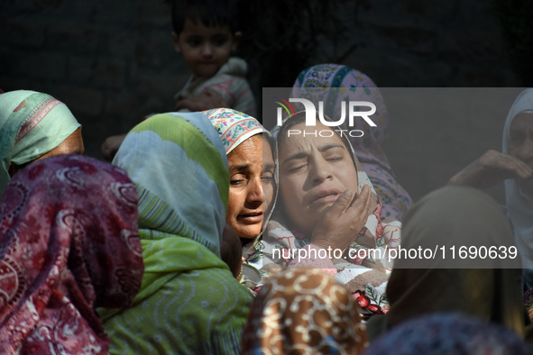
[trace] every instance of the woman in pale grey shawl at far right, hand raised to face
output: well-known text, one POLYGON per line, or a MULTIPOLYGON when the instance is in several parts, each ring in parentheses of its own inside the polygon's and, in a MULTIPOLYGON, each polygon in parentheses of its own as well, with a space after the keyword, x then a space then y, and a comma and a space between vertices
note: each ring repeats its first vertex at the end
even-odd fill
MULTIPOLYGON (((504 181, 507 216, 522 259, 523 284, 533 287, 533 88, 522 91, 503 126, 501 152, 488 150, 458 172, 449 185, 487 188, 504 181)), ((527 302, 533 320, 533 291, 527 302)))

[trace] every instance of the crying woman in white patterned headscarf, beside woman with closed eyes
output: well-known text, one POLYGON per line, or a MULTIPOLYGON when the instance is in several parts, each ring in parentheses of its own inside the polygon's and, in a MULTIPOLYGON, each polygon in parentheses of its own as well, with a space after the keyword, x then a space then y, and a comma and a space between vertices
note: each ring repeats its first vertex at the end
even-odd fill
MULTIPOLYGON (((248 114, 228 108, 204 113, 216 128, 229 163, 226 222, 242 241, 244 265, 259 269, 262 266, 262 228, 271 215, 277 195, 275 141, 271 133, 248 114)), ((261 282, 259 275, 252 276, 257 278, 256 283, 261 282)))

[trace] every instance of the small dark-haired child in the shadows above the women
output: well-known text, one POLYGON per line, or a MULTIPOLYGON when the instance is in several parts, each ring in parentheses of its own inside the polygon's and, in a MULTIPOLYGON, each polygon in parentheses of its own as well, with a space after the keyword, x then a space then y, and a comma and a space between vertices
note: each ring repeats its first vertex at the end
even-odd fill
MULTIPOLYGON (((205 111, 229 107, 255 115, 255 101, 245 75, 244 59, 230 57, 242 33, 237 31, 235 0, 174 0, 172 41, 192 71, 176 94, 175 110, 205 111)), ((107 137, 102 155, 113 159, 125 134, 107 137)))

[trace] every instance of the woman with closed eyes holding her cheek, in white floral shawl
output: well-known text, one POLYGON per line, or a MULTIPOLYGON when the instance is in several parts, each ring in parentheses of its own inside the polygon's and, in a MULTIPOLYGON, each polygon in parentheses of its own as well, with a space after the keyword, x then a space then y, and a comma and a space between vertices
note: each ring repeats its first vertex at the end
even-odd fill
POLYGON ((263 269, 327 269, 362 297, 364 312, 381 313, 388 250, 400 243, 400 223, 381 216, 381 201, 345 136, 322 123, 321 135, 290 135, 306 130, 305 119, 304 112, 290 116, 277 133, 280 196, 263 233, 263 269))

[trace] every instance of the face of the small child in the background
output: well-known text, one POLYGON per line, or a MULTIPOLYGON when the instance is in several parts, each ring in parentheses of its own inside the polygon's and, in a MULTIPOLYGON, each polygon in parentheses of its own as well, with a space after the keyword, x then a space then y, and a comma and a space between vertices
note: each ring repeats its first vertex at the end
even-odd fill
POLYGON ((174 48, 183 55, 195 78, 214 76, 237 48, 240 37, 241 33, 232 34, 227 24, 207 27, 199 19, 186 19, 179 35, 172 32, 174 48))

